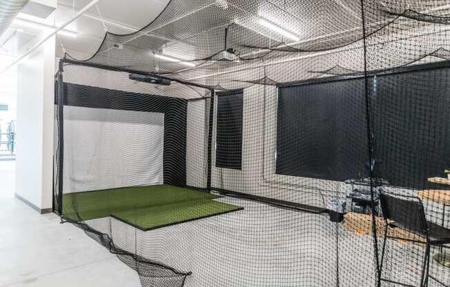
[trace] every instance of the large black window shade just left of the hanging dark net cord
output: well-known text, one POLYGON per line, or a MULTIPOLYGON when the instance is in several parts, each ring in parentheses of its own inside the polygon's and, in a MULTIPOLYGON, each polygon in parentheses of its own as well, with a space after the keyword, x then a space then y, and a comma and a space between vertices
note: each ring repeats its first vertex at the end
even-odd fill
POLYGON ((280 175, 367 176, 364 79, 280 87, 276 156, 280 175))

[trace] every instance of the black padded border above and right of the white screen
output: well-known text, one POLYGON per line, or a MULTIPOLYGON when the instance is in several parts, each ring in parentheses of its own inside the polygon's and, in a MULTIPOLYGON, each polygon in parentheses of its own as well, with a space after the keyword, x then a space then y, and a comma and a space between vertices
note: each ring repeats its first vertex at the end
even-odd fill
POLYGON ((64 83, 64 91, 65 106, 164 113, 164 184, 186 186, 186 99, 73 83, 64 83))

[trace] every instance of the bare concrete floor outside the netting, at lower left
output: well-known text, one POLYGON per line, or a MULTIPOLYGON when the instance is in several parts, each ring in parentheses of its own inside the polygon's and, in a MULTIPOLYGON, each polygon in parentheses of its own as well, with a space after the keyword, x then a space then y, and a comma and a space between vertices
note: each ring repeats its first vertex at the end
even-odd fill
POLYGON ((141 286, 137 273, 71 224, 14 198, 14 161, 0 161, 0 286, 141 286))

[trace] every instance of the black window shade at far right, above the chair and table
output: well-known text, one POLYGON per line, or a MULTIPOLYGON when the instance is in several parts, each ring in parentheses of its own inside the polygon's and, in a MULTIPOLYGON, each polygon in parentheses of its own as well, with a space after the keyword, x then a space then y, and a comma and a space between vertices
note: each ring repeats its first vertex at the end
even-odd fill
MULTIPOLYGON (((450 168, 450 68, 376 77, 373 108, 379 175, 395 186, 429 188, 450 168)), ((442 189, 444 186, 436 186, 442 189)))

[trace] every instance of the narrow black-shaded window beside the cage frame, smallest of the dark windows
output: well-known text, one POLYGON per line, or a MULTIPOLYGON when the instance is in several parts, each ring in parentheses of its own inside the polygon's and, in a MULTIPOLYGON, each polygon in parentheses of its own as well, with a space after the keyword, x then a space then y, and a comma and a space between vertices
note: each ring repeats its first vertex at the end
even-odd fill
POLYGON ((217 92, 215 166, 242 168, 242 112, 244 91, 217 92))

